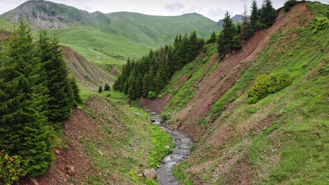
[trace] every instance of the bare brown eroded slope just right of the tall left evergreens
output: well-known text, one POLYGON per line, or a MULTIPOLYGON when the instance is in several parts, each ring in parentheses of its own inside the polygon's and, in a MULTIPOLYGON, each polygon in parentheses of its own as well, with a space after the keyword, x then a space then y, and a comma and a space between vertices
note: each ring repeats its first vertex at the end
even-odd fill
POLYGON ((61 48, 63 49, 67 67, 69 67, 72 75, 75 76, 80 84, 96 90, 98 85, 104 85, 105 83, 112 85, 115 82, 115 78, 110 76, 109 73, 86 60, 75 50, 65 46, 61 46, 61 48))

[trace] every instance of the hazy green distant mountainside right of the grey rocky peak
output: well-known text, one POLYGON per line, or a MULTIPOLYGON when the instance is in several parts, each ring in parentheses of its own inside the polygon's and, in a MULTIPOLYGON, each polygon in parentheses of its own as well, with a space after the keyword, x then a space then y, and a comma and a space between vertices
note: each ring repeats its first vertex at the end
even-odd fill
POLYGON ((195 30, 206 37, 217 31, 216 22, 198 13, 179 16, 156 16, 141 13, 108 13, 111 19, 110 32, 139 43, 159 46, 172 43, 176 34, 190 34, 195 30))

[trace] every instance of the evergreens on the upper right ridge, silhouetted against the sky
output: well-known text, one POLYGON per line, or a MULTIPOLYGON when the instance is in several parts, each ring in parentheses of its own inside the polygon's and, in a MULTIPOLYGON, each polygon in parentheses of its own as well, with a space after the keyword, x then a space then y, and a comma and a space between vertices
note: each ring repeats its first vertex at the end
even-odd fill
MULTIPOLYGON (((231 15, 226 12, 223 29, 219 33, 217 43, 219 44, 218 52, 220 57, 224 57, 232 50, 241 48, 241 41, 252 36, 259 29, 270 27, 276 21, 276 9, 272 6, 271 0, 264 0, 262 8, 258 8, 257 2, 252 1, 251 15, 247 15, 247 7, 243 13, 243 22, 233 24, 231 15)), ((214 35, 216 36, 216 35, 214 35)), ((207 41, 212 43, 213 35, 207 41)))

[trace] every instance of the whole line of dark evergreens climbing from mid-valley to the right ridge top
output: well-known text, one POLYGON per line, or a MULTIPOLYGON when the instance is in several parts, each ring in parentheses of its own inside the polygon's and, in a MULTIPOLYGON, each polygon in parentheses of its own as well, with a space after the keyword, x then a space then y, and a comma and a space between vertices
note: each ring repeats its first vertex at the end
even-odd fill
MULTIPOLYGON (((240 49, 242 40, 249 39, 259 29, 270 27, 275 20, 276 9, 271 0, 264 0, 261 8, 254 0, 251 15, 247 15, 245 8, 241 24, 234 25, 231 15, 226 12, 221 32, 218 36, 213 32, 206 43, 218 43, 219 57, 223 58, 232 50, 240 49)), ((141 60, 128 59, 122 74, 113 85, 114 90, 129 95, 130 100, 157 97, 174 72, 195 59, 204 43, 196 32, 192 32, 190 36, 177 35, 172 45, 156 51, 150 50, 141 60)))

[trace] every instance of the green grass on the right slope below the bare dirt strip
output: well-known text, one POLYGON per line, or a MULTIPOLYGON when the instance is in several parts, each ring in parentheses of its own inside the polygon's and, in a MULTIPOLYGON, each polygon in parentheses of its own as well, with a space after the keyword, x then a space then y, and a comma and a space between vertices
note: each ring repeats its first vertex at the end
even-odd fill
MULTIPOLYGON (((311 3, 309 8, 316 17, 328 12, 325 5, 311 3)), ((186 184, 191 179, 204 184, 228 184, 230 175, 238 172, 236 165, 243 160, 255 174, 250 183, 328 184, 328 30, 313 32, 313 21, 302 28, 304 23, 300 21, 287 32, 273 34, 271 46, 243 71, 243 76, 225 95, 219 97, 207 115, 213 118, 212 121, 217 121, 217 125, 209 127, 208 135, 201 137, 197 146, 202 147, 196 148, 192 159, 174 169, 175 177, 186 184), (257 76, 269 73, 290 74, 292 83, 256 104, 248 104, 247 93, 257 76), (231 111, 225 108, 228 104, 231 111), (228 135, 218 149, 207 146, 208 139, 212 139, 222 123, 240 130, 263 122, 268 125, 257 130, 246 129, 235 137, 228 135), (245 141, 250 141, 250 144, 245 146, 245 141), (195 157, 198 153, 202 153, 202 158, 195 157), (226 158, 221 158, 221 153, 238 153, 236 155, 240 157, 228 170, 217 175, 214 174, 219 168, 216 164, 227 163, 226 158), (207 161, 214 162, 214 165, 209 165, 202 173, 186 170, 207 161), (214 177, 217 179, 212 179, 214 177)), ((179 107, 179 104, 171 106, 179 107)), ((212 124, 205 121, 202 118, 200 124, 212 124)))

